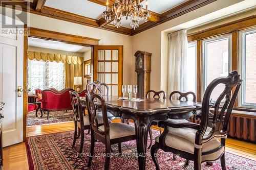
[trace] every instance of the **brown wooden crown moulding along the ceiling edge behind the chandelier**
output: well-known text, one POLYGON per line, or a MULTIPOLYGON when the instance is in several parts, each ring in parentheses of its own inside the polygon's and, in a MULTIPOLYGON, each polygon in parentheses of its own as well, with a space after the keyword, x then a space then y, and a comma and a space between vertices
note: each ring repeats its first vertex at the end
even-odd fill
MULTIPOLYGON (((178 5, 175 8, 172 8, 163 14, 158 14, 151 11, 151 18, 148 18, 148 21, 141 24, 139 28, 133 30, 132 28, 115 28, 111 26, 110 22, 106 22, 103 18, 92 19, 85 16, 77 15, 67 11, 58 10, 55 8, 50 8, 44 6, 46 0, 35 0, 33 3, 27 5, 25 2, 18 1, 5 1, 0 3, 1 6, 12 8, 16 10, 22 10, 24 12, 30 12, 33 14, 51 17, 59 20, 65 20, 73 23, 78 23, 80 25, 85 25, 89 27, 99 28, 103 30, 108 30, 125 35, 135 35, 152 27, 158 26, 161 23, 164 23, 170 19, 174 19, 181 15, 184 15, 190 11, 196 10, 200 7, 203 7, 207 4, 215 2, 217 0, 188 0, 185 3, 178 5), (15 7, 15 5, 18 5, 15 7), (20 8, 21 7, 21 8, 20 8)), ((97 3, 99 5, 105 6, 105 0, 89 0, 91 2, 97 3)), ((143 0, 141 0, 142 2, 143 0)), ((110 5, 114 3, 114 0, 110 0, 110 5)), ((114 17, 113 17, 114 19, 114 17)))

